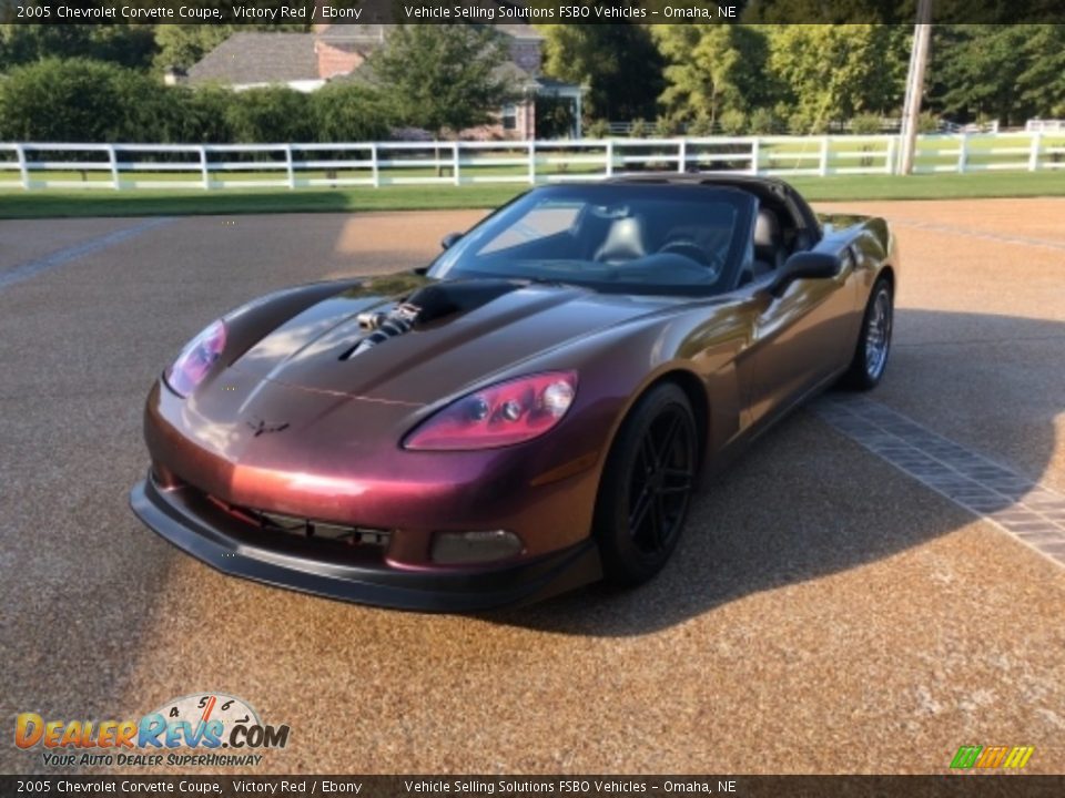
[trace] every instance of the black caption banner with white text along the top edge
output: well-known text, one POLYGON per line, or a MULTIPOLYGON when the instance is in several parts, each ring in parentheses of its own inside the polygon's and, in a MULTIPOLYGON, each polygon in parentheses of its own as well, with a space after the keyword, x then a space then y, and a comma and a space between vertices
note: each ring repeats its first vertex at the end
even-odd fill
MULTIPOLYGON (((916 0, 0 0, 11 24, 912 23, 916 0)), ((932 0, 934 23, 1065 23, 1061 0, 932 0)))

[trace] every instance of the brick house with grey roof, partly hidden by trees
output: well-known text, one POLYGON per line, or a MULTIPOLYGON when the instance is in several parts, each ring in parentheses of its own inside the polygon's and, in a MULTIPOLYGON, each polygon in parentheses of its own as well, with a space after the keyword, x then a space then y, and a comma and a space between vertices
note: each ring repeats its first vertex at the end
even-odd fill
MULTIPOLYGON (((571 135, 580 136, 582 88, 542 74, 544 38, 527 24, 497 24, 509 60, 500 66, 520 99, 501 109, 494 124, 462 131, 463 139, 536 136, 538 98, 562 98, 574 109, 571 135)), ((390 24, 316 24, 312 33, 233 33, 187 71, 187 82, 221 84, 234 91, 286 85, 313 92, 328 81, 357 80, 366 59, 394 30, 390 24)))

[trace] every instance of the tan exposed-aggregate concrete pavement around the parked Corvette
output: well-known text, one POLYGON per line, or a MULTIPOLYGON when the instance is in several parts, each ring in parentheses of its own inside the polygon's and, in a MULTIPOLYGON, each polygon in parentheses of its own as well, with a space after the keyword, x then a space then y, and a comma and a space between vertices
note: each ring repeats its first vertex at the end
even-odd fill
MULTIPOLYGON (((896 221, 904 256, 871 398, 1065 487, 1065 254, 1044 246, 1065 201, 846 208, 896 221)), ((222 576, 140 525, 143 396, 192 332, 292 283, 420 265, 479 215, 178 218, 0 289, 9 723, 220 690, 291 725, 264 773, 943 773, 963 744, 1065 771, 1065 569, 809 411, 626 594, 400 614, 222 576)), ((136 224, 0 223, 22 247, 0 274, 136 224)), ((0 770, 43 769, 0 746, 0 770)))

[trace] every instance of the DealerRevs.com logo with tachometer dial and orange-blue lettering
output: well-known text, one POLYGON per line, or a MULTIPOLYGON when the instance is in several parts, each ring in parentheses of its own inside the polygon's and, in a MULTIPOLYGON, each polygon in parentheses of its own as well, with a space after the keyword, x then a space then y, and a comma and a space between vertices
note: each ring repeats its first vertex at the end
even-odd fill
POLYGON ((40 748, 49 767, 254 767, 263 760, 258 751, 284 748, 288 733, 222 693, 174 698, 139 719, 47 720, 22 713, 14 722, 14 744, 40 748))

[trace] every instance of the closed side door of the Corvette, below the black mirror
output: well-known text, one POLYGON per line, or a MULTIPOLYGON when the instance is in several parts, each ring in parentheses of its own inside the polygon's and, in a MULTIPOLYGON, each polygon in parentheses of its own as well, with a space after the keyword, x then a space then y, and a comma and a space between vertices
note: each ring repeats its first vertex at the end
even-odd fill
MULTIPOLYGON (((780 296, 755 288, 751 347, 751 420, 787 410, 845 362, 856 278, 849 247, 832 246, 842 268, 832 278, 793 280, 780 296)), ((762 283, 762 280, 760 280, 762 283)))

